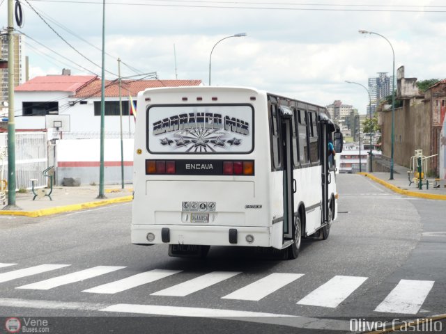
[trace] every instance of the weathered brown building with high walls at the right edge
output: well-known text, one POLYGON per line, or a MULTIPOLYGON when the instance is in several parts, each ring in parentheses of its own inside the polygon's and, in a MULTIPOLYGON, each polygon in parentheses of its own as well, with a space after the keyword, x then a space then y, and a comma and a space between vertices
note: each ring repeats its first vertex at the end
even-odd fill
MULTIPOLYGON (((397 100, 403 106, 394 111, 394 163, 410 168, 410 157, 422 150, 427 160, 426 175, 446 179, 446 79, 422 93, 416 78, 405 78, 398 69, 397 100)), ((380 112, 383 155, 391 156, 392 110, 380 112)))

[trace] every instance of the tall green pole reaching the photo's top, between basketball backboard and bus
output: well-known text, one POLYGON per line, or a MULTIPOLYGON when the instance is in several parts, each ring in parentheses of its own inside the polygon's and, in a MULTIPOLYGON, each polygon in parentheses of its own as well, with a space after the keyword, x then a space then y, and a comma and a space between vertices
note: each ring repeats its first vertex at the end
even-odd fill
MULTIPOLYGON (((12 0, 11 0, 12 1, 12 0)), ((104 194, 104 142, 105 142, 105 0, 102 1, 102 71, 101 71, 101 98, 100 98, 100 164, 99 164, 99 195, 104 194)))

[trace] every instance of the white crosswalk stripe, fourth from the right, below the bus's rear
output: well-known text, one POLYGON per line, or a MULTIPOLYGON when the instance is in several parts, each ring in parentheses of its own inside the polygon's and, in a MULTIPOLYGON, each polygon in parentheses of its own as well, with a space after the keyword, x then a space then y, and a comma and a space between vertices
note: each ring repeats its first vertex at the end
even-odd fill
POLYGON ((184 283, 168 287, 167 289, 160 290, 153 293, 153 296, 180 296, 184 297, 188 294, 192 294, 211 285, 227 280, 233 276, 238 275, 240 272, 235 271, 213 271, 212 273, 206 273, 206 275, 187 280, 184 283))

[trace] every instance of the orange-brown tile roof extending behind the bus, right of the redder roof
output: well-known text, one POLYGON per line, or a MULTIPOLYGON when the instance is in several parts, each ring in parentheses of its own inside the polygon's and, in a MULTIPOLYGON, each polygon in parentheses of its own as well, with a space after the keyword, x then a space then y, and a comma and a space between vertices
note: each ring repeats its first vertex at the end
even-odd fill
MULTIPOLYGON (((137 96, 138 92, 146 88, 199 86, 201 80, 121 80, 121 95, 137 96)), ((101 80, 96 79, 79 89, 75 97, 100 97, 101 80)), ((118 80, 105 80, 105 96, 118 97, 118 80)))

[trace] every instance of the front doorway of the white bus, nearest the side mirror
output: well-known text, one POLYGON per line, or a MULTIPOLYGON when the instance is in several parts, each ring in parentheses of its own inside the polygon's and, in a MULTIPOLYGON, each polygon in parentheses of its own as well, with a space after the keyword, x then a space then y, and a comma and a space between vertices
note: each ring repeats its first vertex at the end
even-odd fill
POLYGON ((321 145, 321 165, 322 165, 322 224, 329 222, 328 206, 330 203, 330 193, 328 193, 328 184, 330 180, 330 167, 328 166, 328 122, 321 120, 319 122, 319 143, 321 145))

